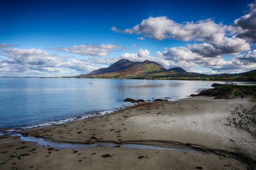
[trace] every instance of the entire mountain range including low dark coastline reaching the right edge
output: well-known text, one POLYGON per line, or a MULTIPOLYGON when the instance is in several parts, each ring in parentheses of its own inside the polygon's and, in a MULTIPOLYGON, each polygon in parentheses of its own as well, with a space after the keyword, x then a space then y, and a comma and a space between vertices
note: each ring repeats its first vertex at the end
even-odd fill
POLYGON ((73 76, 72 78, 125 78, 125 79, 144 79, 145 77, 152 79, 165 80, 211 80, 223 81, 227 76, 235 81, 256 81, 256 70, 238 73, 238 74, 199 74, 187 72, 183 68, 173 67, 164 68, 162 65, 145 60, 143 62, 133 62, 128 59, 121 59, 107 68, 100 68, 88 74, 73 76))

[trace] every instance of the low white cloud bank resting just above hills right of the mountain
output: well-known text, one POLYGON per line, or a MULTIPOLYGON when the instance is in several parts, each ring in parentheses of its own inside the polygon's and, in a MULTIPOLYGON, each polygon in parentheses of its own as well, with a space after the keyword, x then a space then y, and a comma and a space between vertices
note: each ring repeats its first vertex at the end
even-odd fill
POLYGON ((180 65, 178 67, 185 66, 184 68, 189 66, 188 69, 192 71, 197 66, 218 71, 250 71, 256 69, 256 50, 245 54, 237 54, 231 61, 226 61, 221 56, 215 58, 203 57, 187 47, 172 47, 164 52, 157 52, 157 56, 162 60, 169 61, 170 66, 180 65))

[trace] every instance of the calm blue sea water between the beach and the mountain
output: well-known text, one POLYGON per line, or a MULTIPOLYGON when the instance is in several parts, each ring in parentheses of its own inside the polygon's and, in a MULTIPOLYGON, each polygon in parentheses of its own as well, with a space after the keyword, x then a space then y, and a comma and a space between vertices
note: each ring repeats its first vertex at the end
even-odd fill
POLYGON ((115 110, 127 97, 170 101, 211 88, 211 81, 0 78, 0 129, 115 110))

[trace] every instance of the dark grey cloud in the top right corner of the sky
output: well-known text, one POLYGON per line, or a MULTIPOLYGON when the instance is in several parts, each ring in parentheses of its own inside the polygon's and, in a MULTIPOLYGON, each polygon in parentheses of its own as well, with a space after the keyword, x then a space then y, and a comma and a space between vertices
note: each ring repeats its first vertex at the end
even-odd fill
POLYGON ((248 6, 250 7, 249 13, 234 21, 236 36, 256 43, 256 1, 248 6))

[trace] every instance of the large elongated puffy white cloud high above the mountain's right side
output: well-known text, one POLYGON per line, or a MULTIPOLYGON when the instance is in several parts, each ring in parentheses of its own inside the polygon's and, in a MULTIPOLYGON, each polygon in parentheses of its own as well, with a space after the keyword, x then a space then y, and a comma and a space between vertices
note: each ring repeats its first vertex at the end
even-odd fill
POLYGON ((167 17, 149 17, 138 25, 125 30, 112 27, 112 31, 128 34, 142 34, 154 40, 177 39, 182 41, 196 40, 210 43, 221 43, 225 36, 225 27, 211 19, 194 22, 176 23, 167 17))

